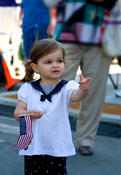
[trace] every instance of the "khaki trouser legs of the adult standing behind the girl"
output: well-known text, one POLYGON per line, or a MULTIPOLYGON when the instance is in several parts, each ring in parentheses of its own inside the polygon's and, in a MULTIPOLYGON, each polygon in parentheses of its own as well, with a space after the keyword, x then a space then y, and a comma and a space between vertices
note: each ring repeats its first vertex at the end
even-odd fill
POLYGON ((77 119, 77 144, 92 147, 102 112, 111 58, 97 46, 85 46, 82 73, 91 77, 89 95, 83 100, 77 119))

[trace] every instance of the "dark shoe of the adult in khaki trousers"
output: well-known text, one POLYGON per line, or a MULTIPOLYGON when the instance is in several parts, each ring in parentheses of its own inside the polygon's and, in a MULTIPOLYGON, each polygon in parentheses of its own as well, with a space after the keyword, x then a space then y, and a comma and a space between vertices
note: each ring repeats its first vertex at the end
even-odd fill
POLYGON ((93 149, 91 146, 80 146, 79 153, 85 156, 89 156, 94 154, 93 149))

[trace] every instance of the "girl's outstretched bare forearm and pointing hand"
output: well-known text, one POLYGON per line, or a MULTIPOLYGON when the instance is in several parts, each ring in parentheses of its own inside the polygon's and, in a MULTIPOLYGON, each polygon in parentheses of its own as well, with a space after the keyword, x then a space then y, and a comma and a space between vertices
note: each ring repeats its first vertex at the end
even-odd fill
POLYGON ((71 101, 77 102, 83 100, 88 92, 89 92, 89 85, 90 85, 90 78, 84 78, 82 74, 80 74, 80 86, 78 89, 75 89, 71 94, 71 101))

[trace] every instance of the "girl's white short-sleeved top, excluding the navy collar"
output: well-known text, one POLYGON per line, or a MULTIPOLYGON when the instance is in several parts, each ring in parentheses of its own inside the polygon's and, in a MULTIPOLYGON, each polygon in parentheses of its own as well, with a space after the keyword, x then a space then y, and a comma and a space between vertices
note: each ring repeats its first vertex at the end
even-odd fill
POLYGON ((27 150, 19 155, 51 155, 58 157, 75 154, 69 123, 70 96, 79 84, 73 80, 52 96, 52 101, 40 101, 42 92, 25 83, 18 91, 18 99, 27 104, 27 110, 44 112, 40 119, 32 119, 33 139, 27 150))

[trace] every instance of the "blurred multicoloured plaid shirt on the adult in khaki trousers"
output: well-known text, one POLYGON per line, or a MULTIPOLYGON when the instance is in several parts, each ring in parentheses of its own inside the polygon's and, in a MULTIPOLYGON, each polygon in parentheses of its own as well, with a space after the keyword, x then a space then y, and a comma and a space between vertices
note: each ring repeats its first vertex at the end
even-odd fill
POLYGON ((57 24, 53 36, 66 43, 101 45, 109 16, 110 12, 98 3, 66 0, 57 8, 57 24))

